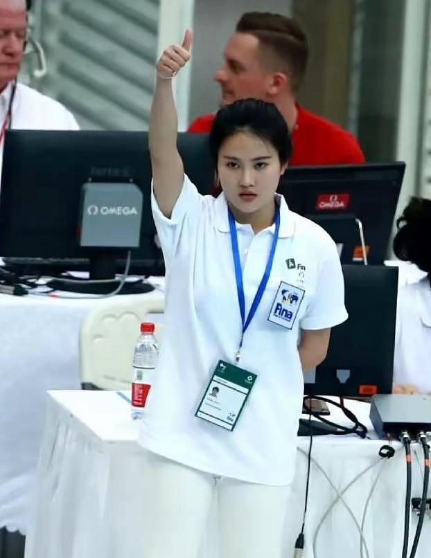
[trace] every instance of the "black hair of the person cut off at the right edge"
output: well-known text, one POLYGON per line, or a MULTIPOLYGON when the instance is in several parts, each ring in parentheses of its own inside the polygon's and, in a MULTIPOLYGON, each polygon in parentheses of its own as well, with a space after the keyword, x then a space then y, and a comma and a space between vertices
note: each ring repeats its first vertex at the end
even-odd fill
POLYGON ((431 273, 431 199, 412 197, 396 220, 394 253, 405 262, 412 262, 431 273))

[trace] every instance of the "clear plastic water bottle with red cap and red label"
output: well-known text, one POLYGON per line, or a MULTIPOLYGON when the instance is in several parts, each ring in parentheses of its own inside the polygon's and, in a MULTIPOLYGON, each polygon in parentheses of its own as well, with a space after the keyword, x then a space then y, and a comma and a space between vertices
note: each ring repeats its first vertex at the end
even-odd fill
POLYGON ((143 417, 159 357, 159 345, 154 330, 154 323, 141 323, 141 335, 134 348, 132 381, 132 419, 134 420, 143 417))

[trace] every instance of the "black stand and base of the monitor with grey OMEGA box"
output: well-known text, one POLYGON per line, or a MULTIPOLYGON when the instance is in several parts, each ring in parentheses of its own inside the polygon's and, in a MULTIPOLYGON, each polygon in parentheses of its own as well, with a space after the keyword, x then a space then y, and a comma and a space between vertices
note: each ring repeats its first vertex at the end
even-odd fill
MULTIPOLYGON (((82 294, 110 294, 118 289, 121 282, 115 275, 115 260, 116 253, 109 251, 94 253, 90 256, 89 279, 51 279, 46 283, 46 287, 55 291, 82 294)), ((143 294, 151 291, 154 291, 154 287, 150 283, 137 279, 126 281, 117 294, 143 294)))

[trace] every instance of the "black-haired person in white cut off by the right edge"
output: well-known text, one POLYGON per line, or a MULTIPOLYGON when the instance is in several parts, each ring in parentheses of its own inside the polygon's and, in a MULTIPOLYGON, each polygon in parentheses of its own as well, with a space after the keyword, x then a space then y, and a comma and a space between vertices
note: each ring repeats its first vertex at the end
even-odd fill
POLYGON ((395 255, 427 275, 398 291, 394 393, 431 395, 431 200, 412 198, 397 225, 395 255))

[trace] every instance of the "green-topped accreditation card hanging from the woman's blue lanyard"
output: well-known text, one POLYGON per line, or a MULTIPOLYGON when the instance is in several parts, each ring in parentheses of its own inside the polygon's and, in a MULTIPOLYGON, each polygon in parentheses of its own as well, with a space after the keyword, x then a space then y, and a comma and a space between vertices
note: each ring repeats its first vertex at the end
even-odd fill
POLYGON ((234 430, 256 378, 253 372, 218 361, 195 416, 234 430))

